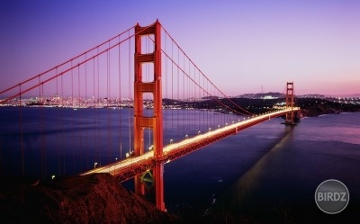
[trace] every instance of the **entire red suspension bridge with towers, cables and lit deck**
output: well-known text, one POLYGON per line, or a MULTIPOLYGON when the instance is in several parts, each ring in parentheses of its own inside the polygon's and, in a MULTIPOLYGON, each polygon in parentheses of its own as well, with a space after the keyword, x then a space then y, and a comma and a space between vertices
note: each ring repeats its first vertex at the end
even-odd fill
POLYGON ((284 91, 283 106, 253 114, 214 85, 160 22, 137 24, 0 92, 2 107, 17 108, 16 123, 1 132, 1 173, 109 173, 134 178, 135 193, 144 194, 141 176, 152 171, 157 209, 165 211, 164 165, 263 121, 284 116, 293 125, 300 111, 293 83, 284 91), (27 107, 36 110, 31 125, 27 107))

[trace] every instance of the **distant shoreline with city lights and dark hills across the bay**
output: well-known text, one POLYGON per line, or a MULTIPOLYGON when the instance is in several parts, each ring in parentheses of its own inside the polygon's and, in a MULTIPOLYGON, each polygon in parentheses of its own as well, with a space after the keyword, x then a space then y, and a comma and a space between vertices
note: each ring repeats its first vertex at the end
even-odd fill
MULTIPOLYGON (((284 98, 206 98, 206 99, 187 99, 187 100, 172 100, 163 99, 163 108, 169 110, 205 110, 220 113, 245 113, 244 111, 236 108, 233 104, 229 103, 229 100, 238 104, 239 107, 245 109, 247 112, 253 114, 259 114, 263 112, 271 111, 276 106, 284 106, 284 98), (220 103, 231 107, 231 111, 220 103)), ((133 101, 130 99, 47 99, 44 98, 41 101, 34 100, 22 100, 19 102, 13 100, 5 106, 24 106, 24 107, 54 107, 54 108, 72 108, 74 110, 80 108, 133 108, 133 101)), ((341 112, 360 112, 360 100, 353 101, 336 101, 322 98, 295 98, 295 105, 302 108, 302 117, 317 117, 322 114, 338 114, 341 112)), ((144 109, 153 109, 153 101, 144 100, 144 109)))

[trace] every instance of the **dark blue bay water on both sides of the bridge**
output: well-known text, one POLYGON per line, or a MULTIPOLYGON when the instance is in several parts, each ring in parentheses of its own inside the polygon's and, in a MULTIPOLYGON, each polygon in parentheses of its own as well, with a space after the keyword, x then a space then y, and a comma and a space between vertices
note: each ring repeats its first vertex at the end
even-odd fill
MULTIPOLYGON (((131 150, 131 110, 0 108, 1 175, 22 174, 22 153, 26 175, 48 177, 74 175, 124 158, 131 150)), ((176 110, 176 130, 166 126, 164 142, 196 132, 191 127, 198 113, 176 110)), ((170 116, 171 110, 164 112, 165 120, 170 116)), ((360 113, 303 118, 295 126, 282 122, 265 121, 166 164, 167 210, 213 223, 336 223, 356 215, 360 113), (328 179, 346 184, 350 193, 347 209, 333 216, 320 211, 314 198, 328 179)))

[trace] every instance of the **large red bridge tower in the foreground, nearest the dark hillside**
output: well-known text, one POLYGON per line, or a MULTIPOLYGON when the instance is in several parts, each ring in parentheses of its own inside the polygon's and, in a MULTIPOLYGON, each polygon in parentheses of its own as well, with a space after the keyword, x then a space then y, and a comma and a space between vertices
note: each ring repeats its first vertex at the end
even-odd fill
MULTIPOLYGON (((135 55, 134 55, 134 156, 144 154, 144 129, 153 133, 154 158, 156 165, 153 169, 155 181, 155 201, 157 209, 165 211, 164 203, 164 163, 160 161, 163 155, 163 118, 162 118, 162 90, 161 90, 161 24, 155 22, 147 27, 135 26, 135 55), (142 53, 141 38, 151 35, 154 39, 154 52, 142 53), (142 64, 153 63, 154 78, 151 82, 143 82, 142 64), (143 114, 143 94, 153 94, 154 111, 151 117, 143 114)), ((141 183, 141 176, 135 177, 135 193, 144 194, 145 186, 141 183)))

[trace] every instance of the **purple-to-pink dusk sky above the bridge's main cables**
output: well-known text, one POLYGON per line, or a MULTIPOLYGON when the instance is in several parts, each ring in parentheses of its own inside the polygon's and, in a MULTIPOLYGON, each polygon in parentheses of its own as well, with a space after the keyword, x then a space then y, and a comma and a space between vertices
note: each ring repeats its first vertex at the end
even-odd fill
POLYGON ((360 93, 356 0, 2 0, 0 90, 157 19, 227 95, 360 93))

